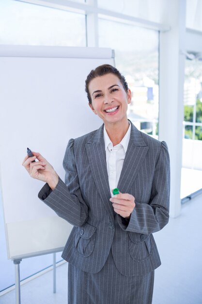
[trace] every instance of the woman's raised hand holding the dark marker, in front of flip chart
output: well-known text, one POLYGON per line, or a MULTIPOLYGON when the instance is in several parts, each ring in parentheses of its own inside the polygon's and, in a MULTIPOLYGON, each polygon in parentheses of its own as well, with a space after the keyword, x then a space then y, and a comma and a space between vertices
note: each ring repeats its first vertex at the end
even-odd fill
POLYGON ((32 178, 47 183, 53 190, 59 181, 59 176, 48 161, 38 152, 33 152, 34 156, 25 156, 22 165, 32 178), (33 160, 38 160, 32 163, 33 160))

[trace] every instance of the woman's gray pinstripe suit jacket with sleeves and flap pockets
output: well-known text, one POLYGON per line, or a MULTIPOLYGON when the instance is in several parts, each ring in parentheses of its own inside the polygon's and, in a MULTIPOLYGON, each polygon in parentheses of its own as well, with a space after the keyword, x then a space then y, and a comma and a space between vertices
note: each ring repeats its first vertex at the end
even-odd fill
POLYGON ((46 184, 39 198, 74 225, 62 257, 77 268, 96 273, 111 249, 117 269, 143 275, 161 262, 152 233, 169 220, 170 162, 165 142, 141 133, 131 135, 118 188, 135 197, 130 220, 113 211, 103 138, 96 131, 70 139, 63 167, 65 183, 52 191, 46 184))

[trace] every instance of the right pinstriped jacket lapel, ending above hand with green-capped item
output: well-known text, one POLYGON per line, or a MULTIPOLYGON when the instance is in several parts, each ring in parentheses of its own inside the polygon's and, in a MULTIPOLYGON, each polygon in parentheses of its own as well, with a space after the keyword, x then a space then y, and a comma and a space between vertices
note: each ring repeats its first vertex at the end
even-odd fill
POLYGON ((128 193, 128 189, 134 183, 147 152, 148 146, 144 142, 140 131, 131 123, 130 140, 118 183, 118 188, 122 193, 128 193))

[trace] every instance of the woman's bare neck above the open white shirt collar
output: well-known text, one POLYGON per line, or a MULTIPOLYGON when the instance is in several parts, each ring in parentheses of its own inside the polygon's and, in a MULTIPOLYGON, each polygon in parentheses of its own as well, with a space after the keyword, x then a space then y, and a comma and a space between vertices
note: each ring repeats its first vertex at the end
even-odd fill
POLYGON ((119 121, 115 123, 105 124, 105 129, 113 144, 113 147, 118 145, 122 141, 128 130, 128 127, 129 127, 129 123, 127 117, 126 119, 124 119, 124 121, 121 122, 119 121))

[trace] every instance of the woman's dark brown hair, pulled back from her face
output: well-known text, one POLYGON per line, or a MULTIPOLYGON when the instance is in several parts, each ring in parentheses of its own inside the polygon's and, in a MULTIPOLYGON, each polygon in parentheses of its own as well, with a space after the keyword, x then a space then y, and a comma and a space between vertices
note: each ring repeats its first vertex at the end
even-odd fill
POLYGON ((92 104, 92 99, 91 99, 91 95, 90 95, 90 92, 89 92, 90 82, 96 77, 103 76, 103 75, 106 75, 106 74, 109 74, 109 73, 114 74, 119 78, 119 80, 121 81, 121 83, 124 87, 125 92, 127 93, 128 84, 126 83, 124 76, 119 72, 119 70, 117 68, 114 68, 113 66, 110 66, 110 65, 107 65, 107 64, 102 65, 102 66, 99 66, 95 69, 92 69, 91 72, 88 74, 88 76, 86 78, 85 91, 87 93, 88 101, 89 101, 90 104, 92 104))

